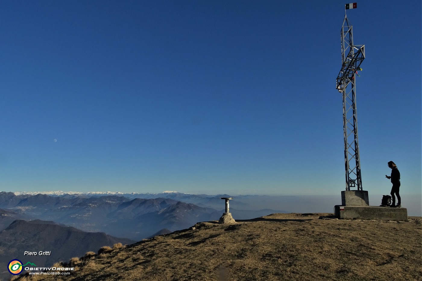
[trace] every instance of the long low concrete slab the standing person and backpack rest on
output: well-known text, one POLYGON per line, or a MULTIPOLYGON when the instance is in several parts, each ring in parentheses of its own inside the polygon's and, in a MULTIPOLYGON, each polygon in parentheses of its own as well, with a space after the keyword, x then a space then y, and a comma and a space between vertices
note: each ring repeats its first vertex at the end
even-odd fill
POLYGON ((338 219, 368 219, 377 221, 407 221, 406 208, 376 206, 334 206, 338 219))

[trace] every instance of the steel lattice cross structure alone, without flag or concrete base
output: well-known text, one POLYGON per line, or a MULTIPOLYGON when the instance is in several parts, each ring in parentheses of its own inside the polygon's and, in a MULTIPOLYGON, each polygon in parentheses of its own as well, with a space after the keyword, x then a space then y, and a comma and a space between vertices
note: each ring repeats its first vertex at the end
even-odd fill
POLYGON ((362 190, 360 174, 359 142, 357 138, 356 77, 365 59, 365 45, 353 44, 353 28, 344 16, 341 28, 341 69, 336 89, 343 94, 344 165, 346 190, 351 187, 362 190))

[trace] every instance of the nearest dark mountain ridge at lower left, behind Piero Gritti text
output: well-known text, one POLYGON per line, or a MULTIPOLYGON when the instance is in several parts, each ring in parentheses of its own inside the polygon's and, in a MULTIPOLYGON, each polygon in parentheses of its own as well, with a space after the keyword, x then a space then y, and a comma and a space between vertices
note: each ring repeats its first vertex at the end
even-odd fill
POLYGON ((51 266, 59 260, 81 257, 87 251, 98 251, 102 246, 115 243, 132 244, 133 240, 116 238, 102 232, 84 232, 55 222, 41 220, 15 220, 0 232, 0 277, 10 278, 7 263, 11 259, 32 262, 39 267, 51 266), (36 256, 24 255, 24 251, 36 252, 36 256), (50 255, 39 255, 50 251, 50 255))

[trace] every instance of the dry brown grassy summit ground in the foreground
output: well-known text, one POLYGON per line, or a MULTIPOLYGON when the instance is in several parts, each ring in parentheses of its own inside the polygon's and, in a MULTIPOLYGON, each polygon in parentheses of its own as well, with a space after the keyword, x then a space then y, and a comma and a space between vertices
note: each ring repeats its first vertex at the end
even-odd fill
POLYGON ((70 276, 21 280, 422 280, 422 218, 276 213, 156 236, 82 260, 70 276))

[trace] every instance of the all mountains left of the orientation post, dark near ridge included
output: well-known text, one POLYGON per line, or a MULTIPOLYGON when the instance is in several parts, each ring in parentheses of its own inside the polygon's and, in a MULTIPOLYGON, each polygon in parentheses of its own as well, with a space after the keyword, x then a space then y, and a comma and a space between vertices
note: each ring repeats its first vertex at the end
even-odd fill
POLYGON ((9 276, 7 262, 12 259, 47 265, 221 216, 213 208, 169 198, 99 194, 0 192, 0 208, 0 267, 4 269, 0 277, 9 276), (51 255, 28 257, 24 251, 50 251, 51 255))

